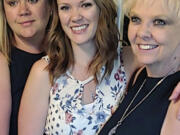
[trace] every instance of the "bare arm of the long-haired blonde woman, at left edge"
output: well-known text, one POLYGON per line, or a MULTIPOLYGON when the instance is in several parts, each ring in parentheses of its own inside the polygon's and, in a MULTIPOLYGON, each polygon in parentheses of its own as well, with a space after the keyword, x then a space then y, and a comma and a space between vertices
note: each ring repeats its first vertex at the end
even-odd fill
POLYGON ((11 113, 10 73, 7 59, 0 53, 0 134, 8 135, 11 113))

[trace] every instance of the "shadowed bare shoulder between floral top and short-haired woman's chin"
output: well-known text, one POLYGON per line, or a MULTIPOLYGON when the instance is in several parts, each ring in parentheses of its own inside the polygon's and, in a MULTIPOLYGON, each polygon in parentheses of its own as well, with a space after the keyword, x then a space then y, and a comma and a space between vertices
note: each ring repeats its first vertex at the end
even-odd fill
POLYGON ((122 57, 123 57, 123 61, 124 61, 124 67, 125 67, 125 71, 126 71, 127 80, 129 80, 132 73, 141 65, 137 61, 135 55, 133 54, 131 46, 123 47, 122 57))

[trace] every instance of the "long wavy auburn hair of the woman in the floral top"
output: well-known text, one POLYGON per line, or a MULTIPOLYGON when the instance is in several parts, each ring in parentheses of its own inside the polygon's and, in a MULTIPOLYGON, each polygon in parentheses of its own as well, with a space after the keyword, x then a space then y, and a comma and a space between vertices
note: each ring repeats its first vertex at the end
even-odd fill
MULTIPOLYGON (((117 58, 119 30, 116 25, 117 7, 113 0, 94 0, 100 10, 99 22, 95 34, 97 52, 89 65, 89 70, 96 76, 105 66, 104 76, 108 76, 113 69, 114 59, 117 58)), ((58 9, 56 7, 56 11, 58 9)), ((49 48, 49 75, 51 83, 54 79, 64 74, 68 68, 74 65, 74 55, 70 39, 63 31, 60 22, 56 24, 54 31, 48 36, 49 48)), ((104 77, 103 76, 103 77, 104 77)), ((101 78, 102 80, 103 78, 101 78)))

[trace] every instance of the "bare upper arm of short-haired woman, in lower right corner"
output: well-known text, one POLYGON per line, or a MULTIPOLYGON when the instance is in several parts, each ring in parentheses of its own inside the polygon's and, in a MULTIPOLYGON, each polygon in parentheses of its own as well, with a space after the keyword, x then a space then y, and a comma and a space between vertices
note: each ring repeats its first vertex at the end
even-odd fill
POLYGON ((161 135, 179 135, 180 121, 176 118, 176 113, 179 109, 179 106, 180 101, 176 103, 171 101, 161 129, 161 135))

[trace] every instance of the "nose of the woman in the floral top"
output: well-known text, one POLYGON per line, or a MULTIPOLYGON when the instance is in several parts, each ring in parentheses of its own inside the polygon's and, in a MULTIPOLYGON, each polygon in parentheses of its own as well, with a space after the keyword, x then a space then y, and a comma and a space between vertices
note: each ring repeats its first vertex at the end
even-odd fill
POLYGON ((82 20, 82 18, 83 16, 81 15, 81 12, 79 9, 72 10, 72 13, 71 13, 72 22, 79 22, 82 20))

